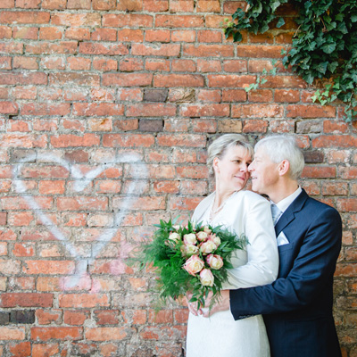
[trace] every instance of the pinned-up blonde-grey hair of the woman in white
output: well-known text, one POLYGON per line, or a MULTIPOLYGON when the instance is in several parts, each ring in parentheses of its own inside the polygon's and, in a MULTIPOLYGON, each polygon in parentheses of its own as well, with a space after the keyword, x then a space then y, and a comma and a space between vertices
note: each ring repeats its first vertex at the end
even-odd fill
POLYGON ((215 139, 212 142, 212 144, 208 147, 207 166, 209 168, 210 175, 214 176, 214 170, 213 170, 214 158, 218 157, 221 160, 223 156, 226 154, 229 147, 232 146, 244 147, 253 159, 253 154, 254 154, 253 146, 248 143, 247 139, 243 135, 224 134, 218 137, 217 139, 215 139))

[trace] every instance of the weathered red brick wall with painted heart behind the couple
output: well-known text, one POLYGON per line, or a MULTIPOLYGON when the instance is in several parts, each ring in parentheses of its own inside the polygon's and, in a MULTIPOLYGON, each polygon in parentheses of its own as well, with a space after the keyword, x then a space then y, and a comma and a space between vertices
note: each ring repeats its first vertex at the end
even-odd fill
POLYGON ((296 12, 237 45, 220 22, 243 5, 1 0, 0 356, 181 356, 187 309, 155 317, 153 279, 125 259, 210 192, 205 149, 228 132, 294 134, 303 187, 341 212, 335 316, 357 356, 357 126, 281 65, 245 93, 296 12))

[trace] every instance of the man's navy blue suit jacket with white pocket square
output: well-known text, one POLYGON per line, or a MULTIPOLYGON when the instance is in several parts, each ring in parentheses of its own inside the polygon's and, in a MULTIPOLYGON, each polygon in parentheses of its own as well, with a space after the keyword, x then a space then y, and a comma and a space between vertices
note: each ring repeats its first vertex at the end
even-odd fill
POLYGON ((278 278, 272 284, 230 291, 236 320, 263 314, 271 357, 341 356, 332 317, 333 276, 341 249, 342 223, 327 204, 297 196, 278 220, 278 278))

